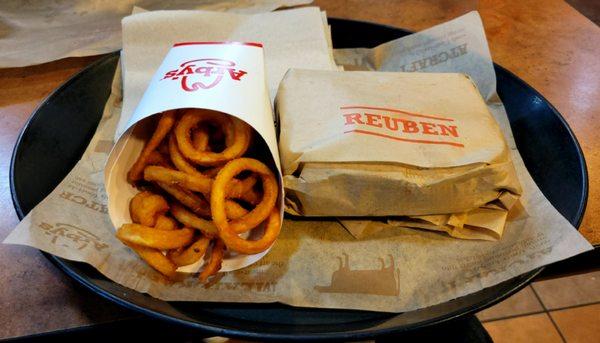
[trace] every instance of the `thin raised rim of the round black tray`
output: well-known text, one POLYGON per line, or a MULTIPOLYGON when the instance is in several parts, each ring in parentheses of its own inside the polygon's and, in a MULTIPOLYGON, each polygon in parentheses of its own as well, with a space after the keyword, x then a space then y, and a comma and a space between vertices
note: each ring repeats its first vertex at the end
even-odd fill
MULTIPOLYGON (((391 30, 405 31, 405 32, 408 32, 409 34, 413 33, 413 31, 406 30, 406 29, 403 29, 400 27, 379 24, 379 23, 369 22, 369 21, 352 20, 352 19, 335 18, 335 17, 328 17, 328 20, 333 20, 333 21, 338 21, 338 22, 348 22, 348 23, 354 22, 354 23, 359 23, 359 24, 385 27, 385 28, 391 29, 391 30)), ((23 209, 21 208, 21 205, 19 203, 19 200, 17 199, 17 195, 15 192, 15 189, 16 189, 16 185, 14 183, 14 181, 15 181, 15 179, 14 179, 15 160, 16 160, 16 154, 17 154, 18 147, 21 145, 23 138, 24 138, 25 134, 27 133, 27 130, 29 128, 31 121, 38 115, 38 111, 40 110, 40 108, 43 107, 49 99, 54 97, 56 94, 61 93, 64 89, 68 88, 73 82, 75 82, 76 80, 81 78, 88 69, 94 68, 95 66, 100 65, 102 63, 106 63, 106 61, 108 59, 112 58, 114 55, 117 55, 119 53, 120 52, 113 52, 113 53, 109 53, 105 56, 99 57, 98 60, 87 65, 82 70, 80 70, 79 72, 77 72, 76 74, 71 76, 67 81, 65 81, 63 84, 61 84, 55 90, 53 90, 50 94, 48 94, 39 103, 39 105, 35 108, 35 110, 30 115, 29 119, 26 121, 23 128, 21 129, 21 131, 17 137, 13 151, 12 151, 10 168, 9 168, 9 185, 10 185, 11 198, 12 198, 12 202, 13 202, 13 207, 15 208, 15 211, 17 213, 17 216, 19 217, 19 220, 22 220, 25 217, 26 213, 24 213, 23 209)), ((550 103, 542 94, 540 94, 535 88, 530 86, 528 83, 526 83, 524 80, 522 80, 520 77, 515 75, 510 70, 508 70, 496 63, 493 63, 493 66, 495 69, 500 69, 503 72, 505 72, 514 81, 519 83, 520 86, 530 89, 531 92, 535 96, 539 97, 544 103, 546 103, 548 105, 548 107, 550 108, 550 110, 552 111, 552 113, 554 114, 554 116, 557 117, 557 119, 561 122, 561 124, 567 129, 567 133, 568 133, 569 137, 575 143, 577 154, 578 154, 579 161, 580 161, 579 169, 580 169, 580 172, 584 179, 584 183, 583 183, 582 189, 581 189, 583 196, 582 196, 580 203, 578 204, 577 213, 576 213, 576 225, 574 225, 574 227, 576 229, 578 229, 581 224, 581 221, 583 220, 583 215, 586 210, 588 196, 589 196, 589 177, 588 177, 588 172, 587 172, 587 163, 585 160, 585 155, 583 154, 583 151, 581 149, 581 145, 579 144, 579 141, 577 140, 575 134, 573 133, 573 130, 571 129, 570 125, 567 123, 565 118, 560 114, 560 112, 558 112, 558 110, 554 107, 554 105, 552 105, 552 103, 550 103)), ((597 247, 597 245, 595 247, 597 247)), ((133 302, 126 301, 122 298, 119 298, 119 297, 111 294, 110 292, 103 290, 102 288, 95 285, 91 281, 86 280, 85 277, 83 277, 82 275, 78 274, 76 271, 71 269, 67 265, 67 263, 70 261, 65 260, 65 259, 55 256, 55 255, 52 255, 50 253, 46 253, 41 250, 40 250, 40 252, 46 258, 48 258, 54 265, 56 265, 62 272, 64 272, 67 276, 69 276, 73 280, 77 281, 80 285, 84 286, 86 289, 92 291, 93 293, 100 295, 102 298, 118 304, 119 306, 123 306, 127 309, 134 310, 138 313, 141 313, 141 314, 153 317, 153 318, 164 320, 164 321, 176 324, 176 325, 181 325, 182 327, 192 327, 195 329, 199 329, 199 330, 204 331, 205 333, 210 333, 210 334, 219 335, 219 336, 228 336, 228 337, 246 338, 246 339, 262 339, 262 340, 269 340, 269 341, 274 341, 274 340, 294 340, 294 341, 298 341, 298 340, 330 340, 330 339, 360 340, 360 339, 373 338, 376 336, 384 336, 384 335, 390 335, 390 334, 394 334, 394 333, 411 331, 414 329, 420 329, 420 328, 424 328, 424 327, 435 325, 435 324, 441 324, 441 323, 462 317, 464 315, 469 315, 469 314, 473 314, 475 312, 479 312, 487 307, 493 306, 493 305, 503 301, 504 299, 510 297, 511 295, 515 294, 516 292, 518 292, 519 290, 524 288, 536 276, 538 276, 545 268, 545 267, 540 267, 540 268, 534 269, 528 273, 522 274, 521 276, 524 276, 523 280, 520 283, 518 283, 517 285, 513 286, 512 289, 508 290, 506 293, 504 293, 501 296, 496 296, 491 300, 481 301, 480 303, 472 306, 470 309, 467 309, 467 310, 454 311, 445 316, 440 316, 440 317, 433 318, 433 319, 430 319, 427 321, 423 321, 419 324, 411 326, 410 328, 408 328, 406 326, 400 326, 400 327, 375 329, 375 330, 365 329, 365 330, 360 330, 360 331, 348 331, 348 332, 301 333, 301 334, 290 335, 290 334, 264 333, 264 332, 260 332, 260 331, 241 331, 241 330, 233 330, 233 329, 227 329, 227 328, 219 328, 219 327, 214 327, 214 326, 210 326, 207 324, 201 324, 201 323, 192 322, 192 321, 188 321, 188 320, 184 320, 184 319, 174 318, 174 317, 162 314, 160 312, 150 310, 143 306, 139 306, 137 304, 134 304, 133 302)), ((516 277, 519 277, 519 276, 516 276, 516 277)))

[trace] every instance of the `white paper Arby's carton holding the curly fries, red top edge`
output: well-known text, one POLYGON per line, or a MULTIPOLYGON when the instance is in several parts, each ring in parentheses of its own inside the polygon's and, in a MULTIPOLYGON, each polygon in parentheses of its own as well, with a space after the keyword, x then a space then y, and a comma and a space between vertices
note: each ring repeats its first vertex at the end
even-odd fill
MULTIPOLYGON (((269 151, 265 155, 272 159, 277 169, 280 185, 277 206, 283 215, 281 167, 273 111, 265 81, 262 44, 181 42, 174 44, 164 58, 129 119, 125 132, 118 137, 108 157, 104 176, 108 213, 115 228, 132 222, 129 202, 139 190, 127 182, 127 172, 152 133, 151 127, 144 125, 144 119, 165 111, 186 108, 228 114, 243 120, 255 130, 253 142, 260 142, 261 138, 264 140, 269 151)), ((255 255, 227 252, 221 271, 246 267, 267 252, 255 255)), ((203 262, 200 260, 193 265, 180 267, 178 271, 197 272, 203 262)))

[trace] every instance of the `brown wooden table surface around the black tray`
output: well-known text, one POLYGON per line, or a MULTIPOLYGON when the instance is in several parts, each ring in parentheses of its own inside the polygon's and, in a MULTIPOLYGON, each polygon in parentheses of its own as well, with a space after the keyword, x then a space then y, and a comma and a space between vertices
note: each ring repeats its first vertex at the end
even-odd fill
MULTIPOLYGON (((559 0, 317 0, 331 17, 422 30, 478 10, 494 61, 546 97, 575 132, 590 195, 580 232, 600 243, 600 28, 559 0)), ((98 57, 0 70, 0 240, 17 225, 9 166, 18 133, 56 87, 98 57)), ((75 285, 38 250, 0 245, 0 339, 137 314, 75 285)))

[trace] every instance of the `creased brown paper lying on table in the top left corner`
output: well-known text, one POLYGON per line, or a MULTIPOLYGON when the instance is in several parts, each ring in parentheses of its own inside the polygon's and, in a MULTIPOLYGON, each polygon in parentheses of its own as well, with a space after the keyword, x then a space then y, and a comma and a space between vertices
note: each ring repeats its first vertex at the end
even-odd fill
POLYGON ((0 2, 0 68, 65 57, 99 55, 121 48, 121 19, 133 6, 147 10, 203 9, 270 12, 312 0, 76 0, 0 2))

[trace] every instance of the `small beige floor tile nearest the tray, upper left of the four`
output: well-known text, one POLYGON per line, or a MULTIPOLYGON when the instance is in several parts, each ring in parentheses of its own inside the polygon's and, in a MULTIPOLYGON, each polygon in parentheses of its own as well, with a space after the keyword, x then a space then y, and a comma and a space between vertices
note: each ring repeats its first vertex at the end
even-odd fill
POLYGON ((533 293, 531 287, 527 286, 512 295, 510 298, 477 313, 479 320, 487 321, 501 319, 511 316, 542 312, 544 309, 533 293))

